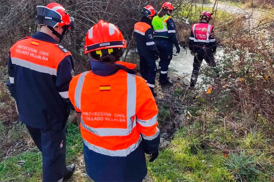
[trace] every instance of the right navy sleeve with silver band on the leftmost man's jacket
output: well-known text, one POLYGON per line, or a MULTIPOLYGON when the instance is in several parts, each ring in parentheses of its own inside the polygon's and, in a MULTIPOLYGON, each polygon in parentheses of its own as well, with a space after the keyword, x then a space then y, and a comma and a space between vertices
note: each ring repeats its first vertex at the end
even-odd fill
POLYGON ((72 77, 74 76, 73 67, 72 56, 66 56, 58 65, 57 78, 55 82, 55 86, 57 87, 60 96, 66 103, 70 104, 72 109, 74 109, 74 107, 68 98, 68 87, 72 77))

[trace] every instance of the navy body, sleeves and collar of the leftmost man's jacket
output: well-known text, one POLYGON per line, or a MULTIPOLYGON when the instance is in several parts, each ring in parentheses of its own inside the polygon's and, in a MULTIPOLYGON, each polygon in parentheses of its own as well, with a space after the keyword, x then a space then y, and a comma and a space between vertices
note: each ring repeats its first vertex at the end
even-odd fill
MULTIPOLYGON (((68 52, 45 33, 38 32, 31 38, 55 44, 56 50, 61 49, 61 53, 68 52)), ((45 51, 60 53, 60 50, 56 50, 45 51)), ((9 56, 7 86, 16 100, 22 123, 39 129, 59 130, 65 126, 72 106, 68 99, 68 86, 74 74, 73 66, 72 56, 65 56, 60 60, 55 76, 39 72, 27 64, 20 66, 12 62, 9 56)))

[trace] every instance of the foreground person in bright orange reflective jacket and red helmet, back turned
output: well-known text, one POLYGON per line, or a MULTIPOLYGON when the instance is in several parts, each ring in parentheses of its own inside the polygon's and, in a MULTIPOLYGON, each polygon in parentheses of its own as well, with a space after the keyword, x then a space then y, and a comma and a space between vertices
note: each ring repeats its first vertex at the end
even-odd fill
POLYGON ((136 65, 119 62, 126 41, 115 25, 100 20, 86 34, 91 71, 73 77, 69 99, 81 113, 86 171, 94 181, 142 181, 145 153, 159 154, 158 109, 136 65))

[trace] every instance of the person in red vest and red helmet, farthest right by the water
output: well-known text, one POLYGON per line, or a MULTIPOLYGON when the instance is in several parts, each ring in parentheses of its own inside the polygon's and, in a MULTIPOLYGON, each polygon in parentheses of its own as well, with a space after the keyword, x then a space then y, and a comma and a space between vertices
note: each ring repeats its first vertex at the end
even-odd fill
POLYGON ((193 88, 197 82, 203 59, 206 60, 209 66, 216 67, 213 53, 216 52, 217 43, 214 37, 213 25, 209 24, 212 14, 209 11, 205 11, 200 18, 200 23, 192 25, 189 37, 189 49, 191 54, 194 55, 190 88, 193 88))

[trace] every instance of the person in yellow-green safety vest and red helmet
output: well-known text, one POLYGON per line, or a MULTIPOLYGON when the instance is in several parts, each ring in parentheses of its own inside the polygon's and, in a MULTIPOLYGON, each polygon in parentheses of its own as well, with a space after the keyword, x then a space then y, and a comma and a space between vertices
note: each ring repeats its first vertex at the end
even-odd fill
POLYGON ((175 22, 170 16, 173 10, 173 5, 167 1, 163 3, 162 9, 152 20, 152 25, 154 28, 154 41, 157 49, 160 52, 159 81, 162 85, 173 84, 167 77, 168 66, 173 55, 173 44, 176 47, 176 53, 179 54, 181 50, 178 39, 176 37, 175 22))

